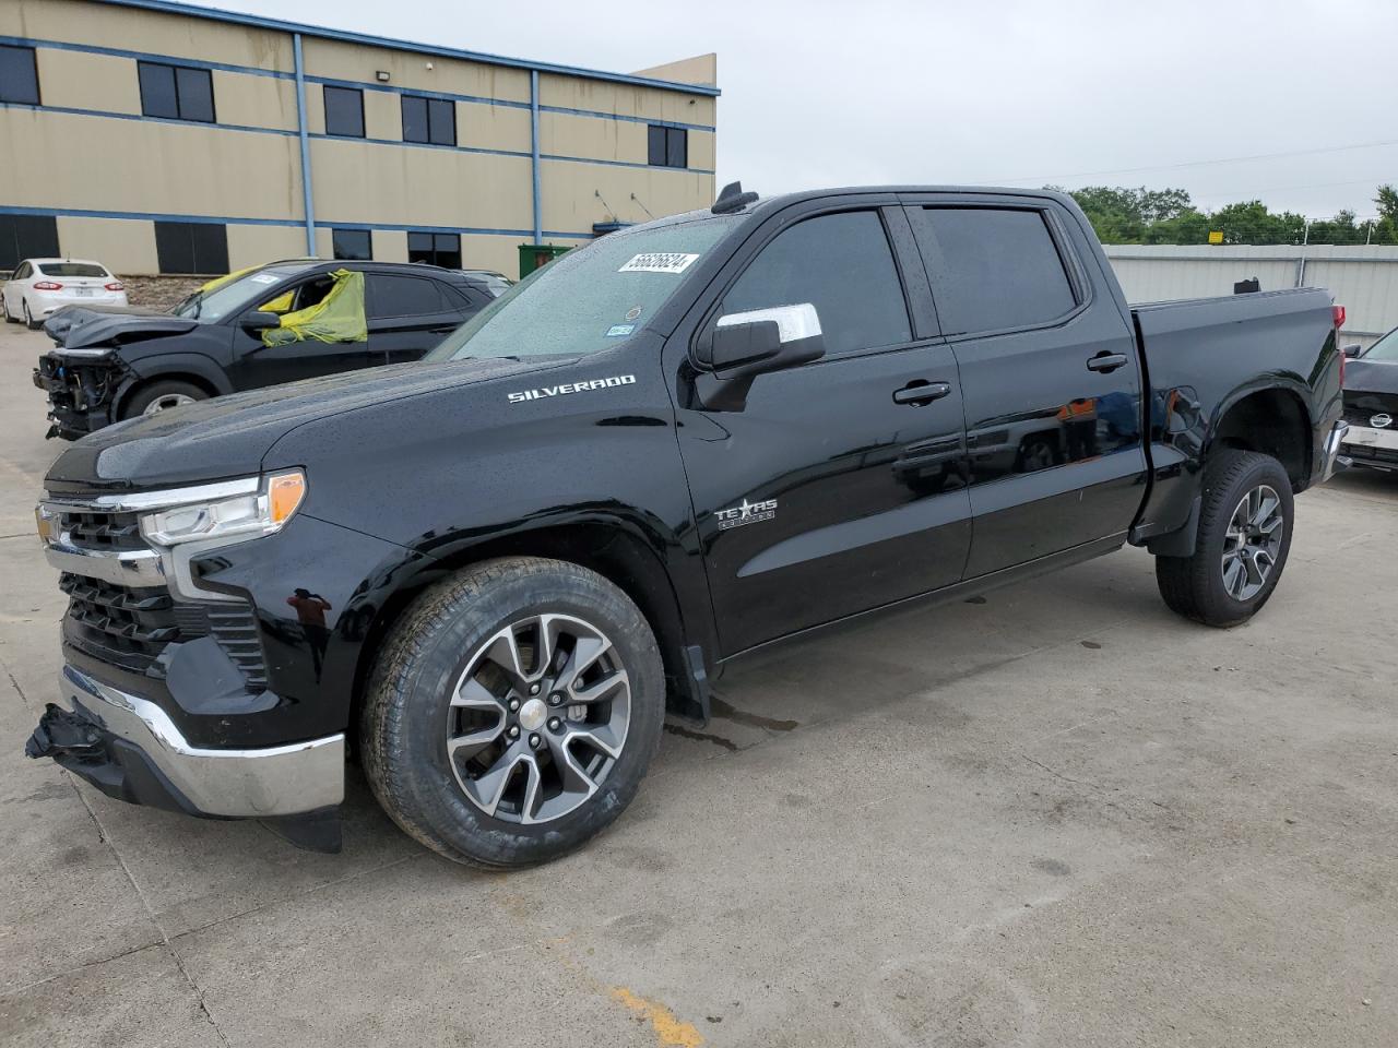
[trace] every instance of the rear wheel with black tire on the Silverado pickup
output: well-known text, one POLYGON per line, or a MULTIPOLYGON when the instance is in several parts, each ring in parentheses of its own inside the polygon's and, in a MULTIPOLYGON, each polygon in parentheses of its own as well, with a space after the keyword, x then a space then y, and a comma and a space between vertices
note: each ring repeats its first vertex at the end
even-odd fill
POLYGON ((1204 472, 1194 555, 1155 559, 1160 597, 1172 611, 1205 626, 1247 622, 1282 577, 1293 521, 1292 482, 1281 463, 1257 451, 1215 453, 1204 472), (1248 499, 1255 500, 1244 504, 1248 499), (1254 521, 1258 514, 1264 518, 1254 521))

